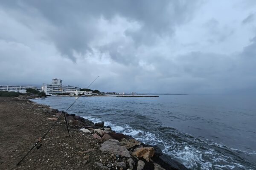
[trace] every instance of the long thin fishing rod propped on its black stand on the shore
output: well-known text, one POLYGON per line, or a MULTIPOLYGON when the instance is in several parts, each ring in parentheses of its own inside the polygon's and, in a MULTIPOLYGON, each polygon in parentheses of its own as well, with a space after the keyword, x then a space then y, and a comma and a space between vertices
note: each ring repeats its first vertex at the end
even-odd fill
MULTIPOLYGON (((96 79, 98 79, 98 78, 99 78, 99 76, 96 77, 96 79)), ((93 82, 95 82, 96 79, 94 79, 93 82)), ((92 85, 93 82, 91 82, 90 85, 92 85)), ((87 88, 89 88, 90 85, 89 85, 87 88)), ((75 100, 75 102, 76 102, 79 98, 80 98, 80 96, 75 100)), ((47 136, 47 134, 49 133, 49 131, 50 131, 50 130, 52 129, 52 127, 58 122, 58 120, 61 118, 61 116, 62 116, 63 114, 64 114, 65 122, 66 122, 66 125, 67 125, 68 135, 69 135, 69 137, 70 137, 71 129, 70 129, 70 132, 69 132, 69 128, 70 128, 70 127, 69 127, 69 125, 68 125, 68 123, 67 123, 67 117, 66 117, 65 113, 67 113, 67 111, 71 108, 71 106, 72 106, 75 102, 73 102, 73 103, 70 105, 70 107, 67 108, 66 111, 61 111, 60 116, 58 116, 58 119, 55 120, 55 122, 52 124, 52 126, 49 128, 49 130, 47 130, 47 132, 44 133, 44 136, 42 136, 41 138, 38 139, 38 141, 33 145, 33 147, 29 150, 29 152, 26 153, 26 155, 25 155, 16 165, 19 165, 20 162, 23 161, 23 159, 26 158, 26 156, 27 156, 35 147, 36 147, 37 149, 39 149, 39 148, 42 146, 42 144, 41 144, 40 142, 47 136), (68 128, 68 127, 69 127, 69 128, 68 128)))

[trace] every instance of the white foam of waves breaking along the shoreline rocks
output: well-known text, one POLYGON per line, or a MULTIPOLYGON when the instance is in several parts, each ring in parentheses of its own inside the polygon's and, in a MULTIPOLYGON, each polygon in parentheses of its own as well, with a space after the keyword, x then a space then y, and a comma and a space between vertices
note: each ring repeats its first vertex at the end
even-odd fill
MULTIPOLYGON (((89 119, 92 122, 102 122, 102 119, 93 116, 82 116, 85 119, 89 119)), ((200 150, 195 148, 191 144, 186 142, 176 142, 172 140, 164 140, 157 134, 145 132, 140 129, 134 129, 129 125, 117 126, 112 122, 105 122, 105 126, 110 126, 113 130, 119 133, 124 133, 126 135, 133 136, 135 139, 145 142, 147 144, 156 145, 159 144, 163 146, 163 153, 171 155, 173 158, 182 162, 187 168, 201 170, 212 170, 212 169, 234 169, 235 167, 244 169, 241 164, 230 162, 227 160, 233 160, 228 156, 220 155, 213 149, 200 150), (207 158, 207 159, 206 159, 207 158), (221 165, 219 162, 226 162, 227 165, 221 165)), ((215 145, 221 148, 227 148, 226 146, 218 143, 212 143, 210 145, 215 145)))

